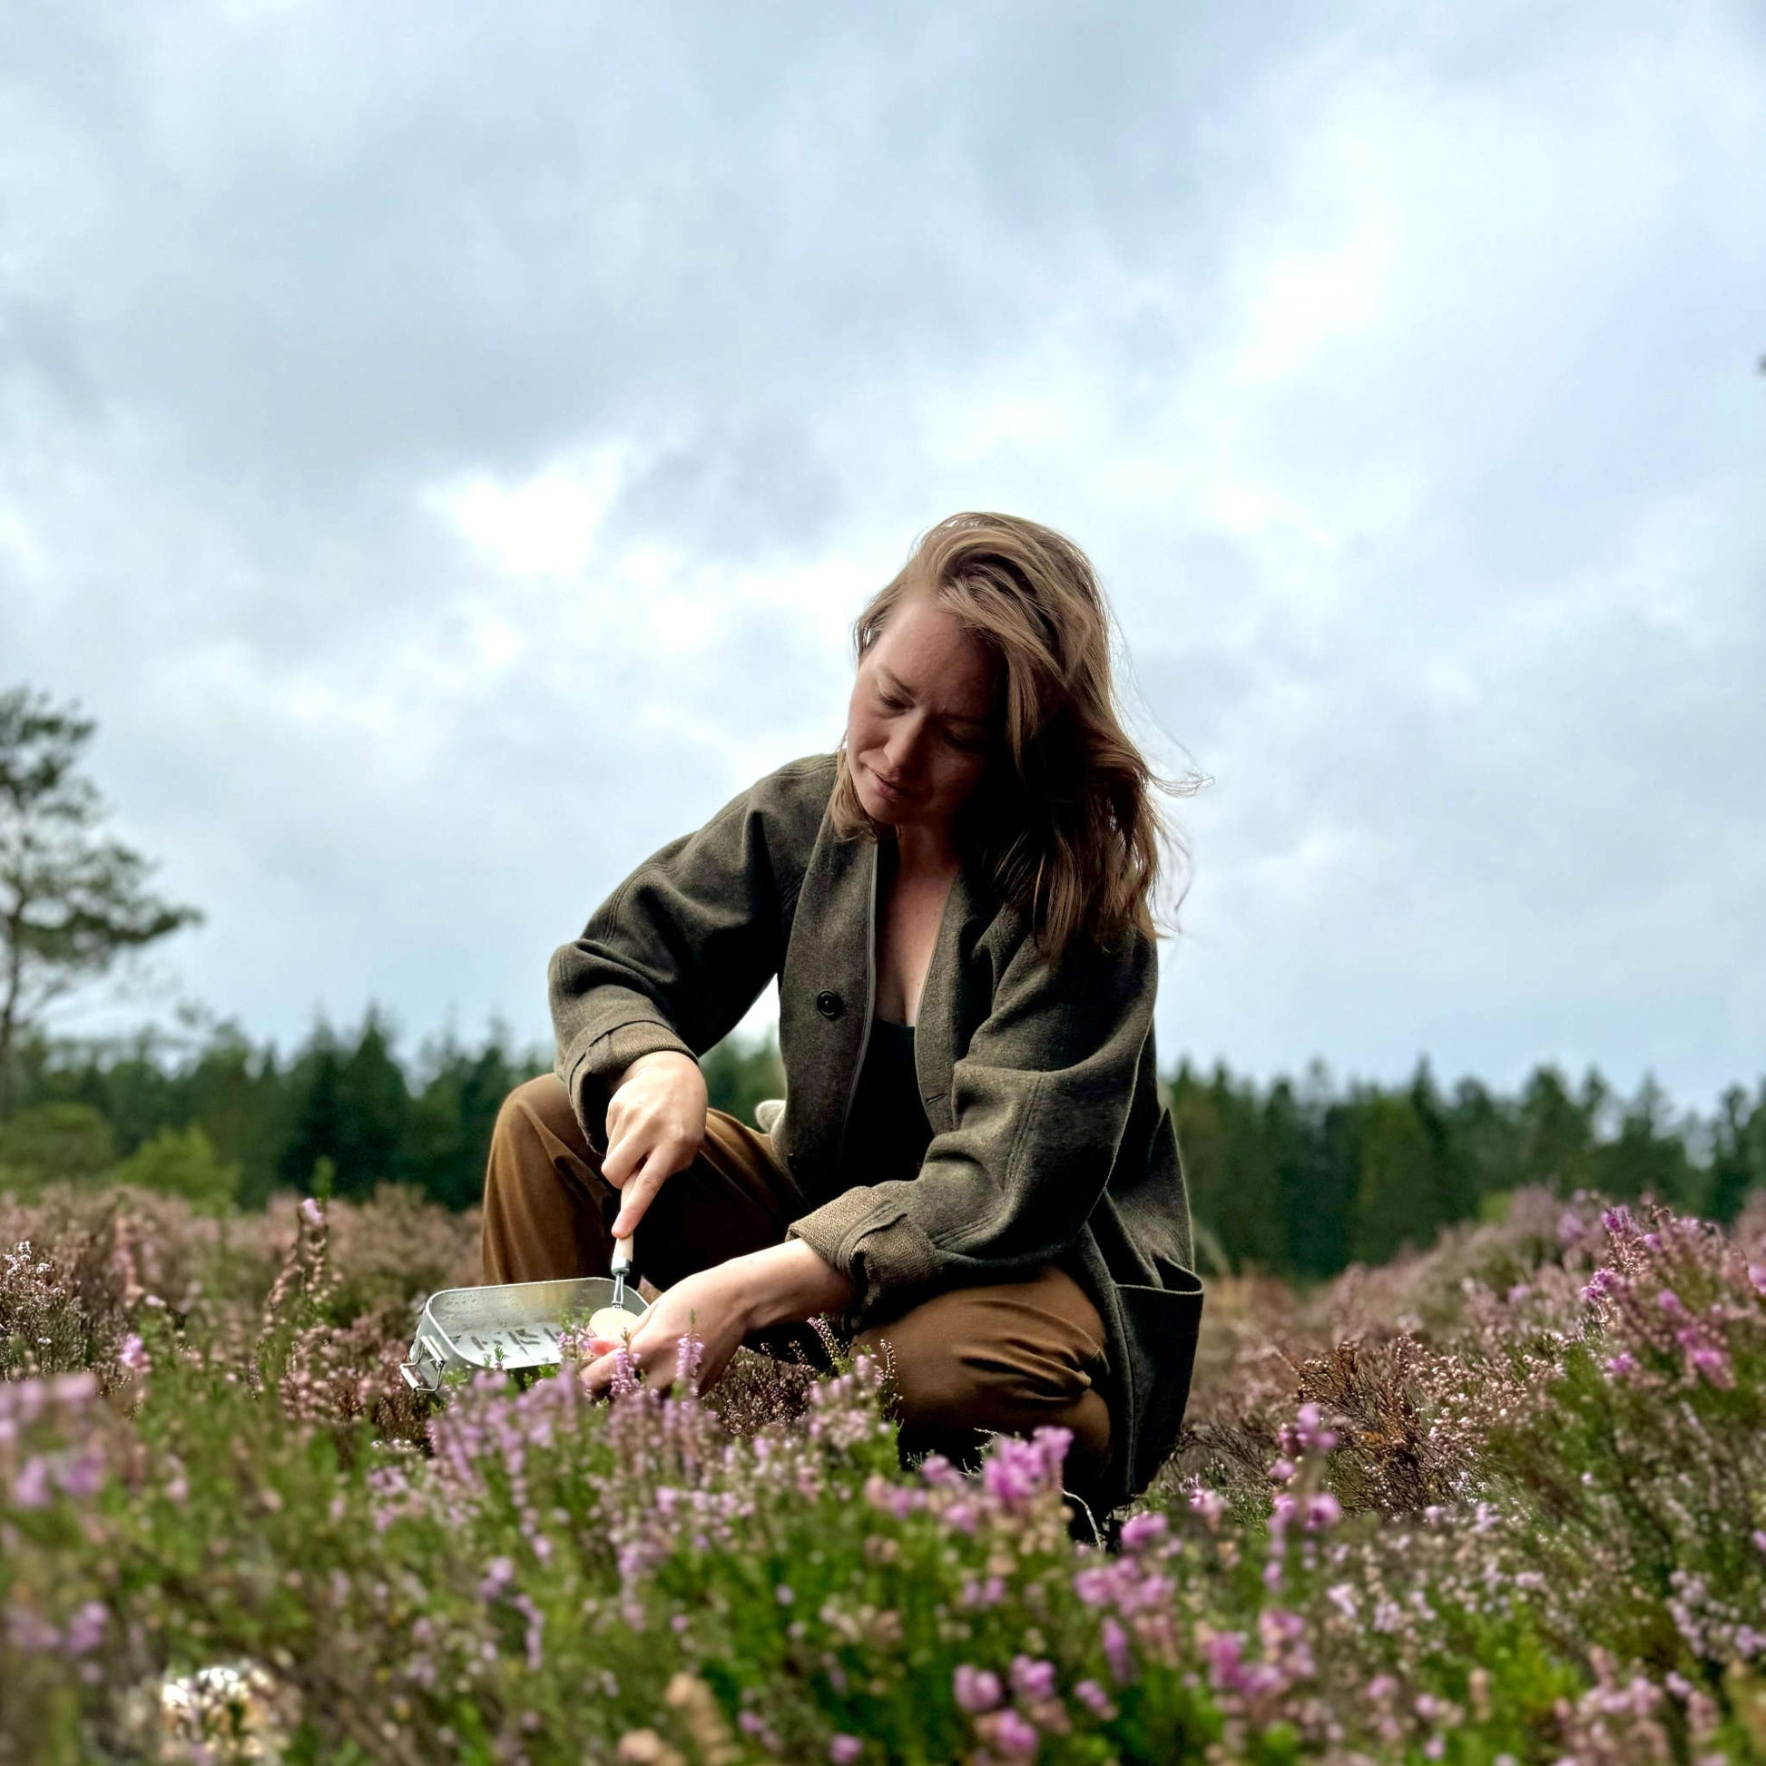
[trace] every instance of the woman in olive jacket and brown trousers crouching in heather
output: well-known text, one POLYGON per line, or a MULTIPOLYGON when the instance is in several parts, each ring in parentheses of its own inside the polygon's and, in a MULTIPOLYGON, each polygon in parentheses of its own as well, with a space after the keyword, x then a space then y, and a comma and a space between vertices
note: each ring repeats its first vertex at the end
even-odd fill
POLYGON ((888 1346, 904 1452, 1054 1423, 1114 1506, 1176 1439, 1201 1284, 1102 595, 1061 535, 962 514, 855 636, 839 751, 664 846, 553 957, 556 1074, 498 1120, 486 1280, 606 1273, 636 1231, 646 1370, 692 1335, 710 1385, 826 1314, 888 1346), (696 1056, 775 977, 766 1136, 706 1109, 696 1056))

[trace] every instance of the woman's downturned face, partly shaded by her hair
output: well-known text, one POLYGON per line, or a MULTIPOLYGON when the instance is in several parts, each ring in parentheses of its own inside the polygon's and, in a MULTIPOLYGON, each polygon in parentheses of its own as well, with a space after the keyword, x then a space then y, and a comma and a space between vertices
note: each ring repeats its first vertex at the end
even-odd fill
POLYGON ((948 828, 987 766, 996 678, 992 653, 934 595, 897 602, 846 712, 846 759, 872 821, 948 828))

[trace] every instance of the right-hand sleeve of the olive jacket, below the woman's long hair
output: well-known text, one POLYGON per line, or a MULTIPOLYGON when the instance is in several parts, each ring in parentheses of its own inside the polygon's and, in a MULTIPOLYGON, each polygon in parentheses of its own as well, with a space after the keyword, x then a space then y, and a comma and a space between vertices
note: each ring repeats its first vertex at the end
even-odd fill
POLYGON ((851 1279, 853 1328, 908 1291, 1010 1280, 1072 1247, 1116 1162, 1157 985, 1144 932, 1060 966, 1019 938, 920 1174, 857 1185, 789 1229, 851 1279))

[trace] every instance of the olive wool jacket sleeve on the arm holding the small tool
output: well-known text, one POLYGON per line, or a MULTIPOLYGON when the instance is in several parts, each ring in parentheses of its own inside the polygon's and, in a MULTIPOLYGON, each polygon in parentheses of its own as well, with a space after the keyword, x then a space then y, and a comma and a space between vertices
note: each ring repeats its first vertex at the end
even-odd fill
POLYGON ((786 775, 804 770, 768 775, 653 853, 553 954, 556 1072, 597 1151, 632 1061, 657 1049, 698 1060, 777 975, 795 883, 789 865, 775 874, 770 811, 786 775))

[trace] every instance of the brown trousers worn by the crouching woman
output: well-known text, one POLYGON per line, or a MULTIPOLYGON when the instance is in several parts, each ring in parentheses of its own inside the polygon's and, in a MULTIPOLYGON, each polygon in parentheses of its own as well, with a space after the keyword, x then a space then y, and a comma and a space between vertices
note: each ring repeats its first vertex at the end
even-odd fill
MULTIPOLYGON (((496 1118, 484 1183, 484 1279, 539 1282, 606 1275, 616 1190, 563 1084, 544 1074, 517 1086, 496 1118)), ((765 1134, 710 1111, 705 1144, 657 1192, 638 1233, 639 1272, 659 1289, 685 1275, 784 1241, 804 1211, 765 1134)), ((768 1332, 779 1353, 802 1333, 768 1332)), ((1045 1423, 1074 1434, 1067 1483, 1084 1491, 1109 1459, 1102 1395, 1104 1324, 1079 1284, 1056 1266, 1031 1280, 934 1294, 862 1332, 853 1347, 888 1344, 902 1453, 973 1464, 987 1434, 1045 1423)))

